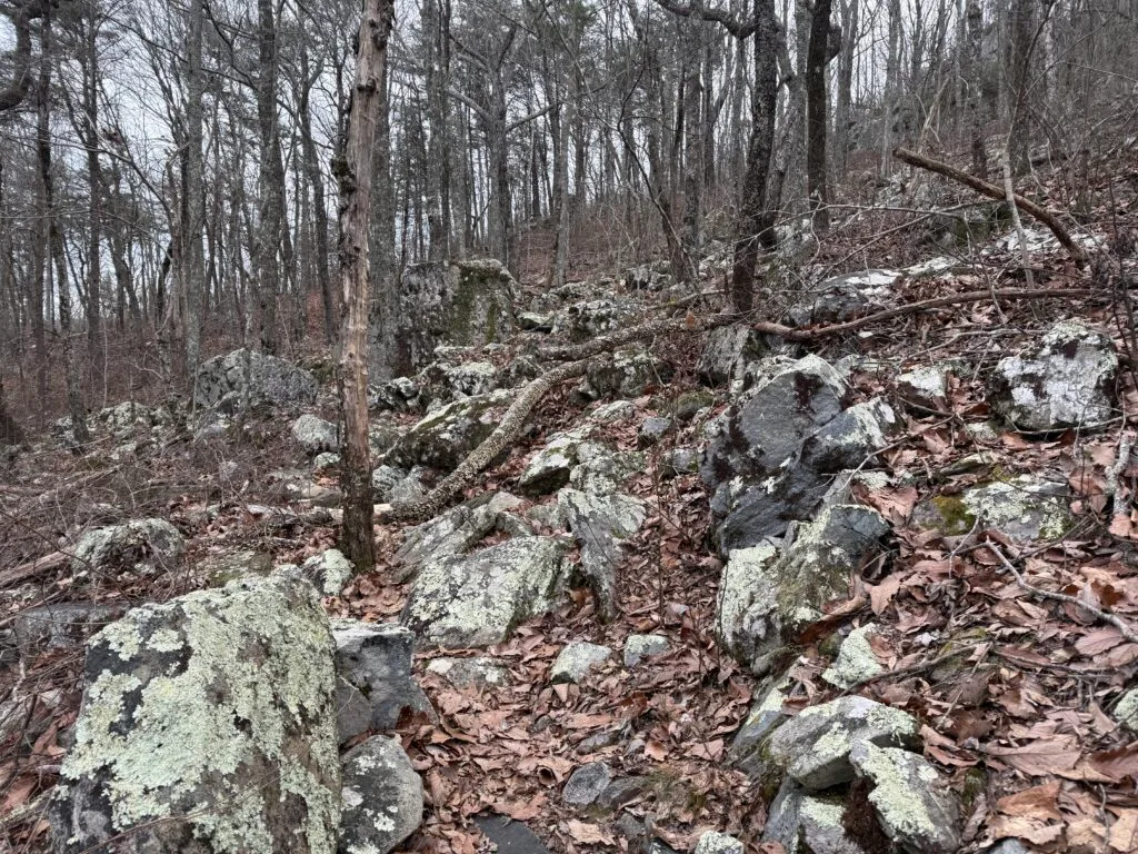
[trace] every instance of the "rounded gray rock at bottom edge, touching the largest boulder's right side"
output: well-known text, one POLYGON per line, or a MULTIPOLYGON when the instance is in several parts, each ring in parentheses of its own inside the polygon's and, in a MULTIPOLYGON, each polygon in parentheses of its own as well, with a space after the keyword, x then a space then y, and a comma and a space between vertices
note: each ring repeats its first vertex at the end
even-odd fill
POLYGON ((344 755, 339 854, 388 854, 422 822, 423 783, 397 738, 376 736, 344 755))

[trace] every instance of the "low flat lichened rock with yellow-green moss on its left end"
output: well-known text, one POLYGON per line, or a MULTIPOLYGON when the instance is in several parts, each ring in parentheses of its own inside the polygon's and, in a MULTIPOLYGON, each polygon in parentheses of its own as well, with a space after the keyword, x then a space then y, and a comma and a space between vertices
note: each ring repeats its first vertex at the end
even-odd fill
POLYGON ((1065 484, 1022 475, 922 501, 914 508, 913 522, 950 536, 973 527, 996 528, 1017 542, 1032 542, 1058 540, 1074 517, 1065 484))

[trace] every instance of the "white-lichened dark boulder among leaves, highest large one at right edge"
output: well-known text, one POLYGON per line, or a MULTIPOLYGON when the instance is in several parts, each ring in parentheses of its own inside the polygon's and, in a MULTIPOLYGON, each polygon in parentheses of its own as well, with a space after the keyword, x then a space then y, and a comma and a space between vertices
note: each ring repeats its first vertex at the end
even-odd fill
POLYGON ((1114 413, 1118 369, 1108 335, 1063 321, 1037 347, 999 361, 989 381, 989 402, 1017 429, 1090 429, 1114 413))

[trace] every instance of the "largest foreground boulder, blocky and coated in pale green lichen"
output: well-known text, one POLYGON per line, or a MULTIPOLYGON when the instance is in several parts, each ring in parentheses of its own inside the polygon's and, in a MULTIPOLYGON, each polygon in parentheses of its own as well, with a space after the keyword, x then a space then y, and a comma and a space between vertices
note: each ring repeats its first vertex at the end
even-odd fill
POLYGON ((137 608, 91 639, 85 679, 57 852, 336 849, 332 638, 312 585, 271 576, 137 608))

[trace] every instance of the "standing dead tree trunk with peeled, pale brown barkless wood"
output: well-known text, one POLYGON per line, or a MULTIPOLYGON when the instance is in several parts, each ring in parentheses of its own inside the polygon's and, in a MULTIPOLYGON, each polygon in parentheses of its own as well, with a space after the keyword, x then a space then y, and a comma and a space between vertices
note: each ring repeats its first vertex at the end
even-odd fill
POLYGON ((376 565, 371 452, 368 444, 368 279, 372 167, 382 107, 393 0, 366 0, 340 173, 340 396, 344 418, 340 548, 361 573, 376 565))

